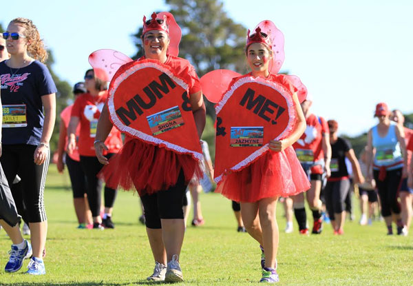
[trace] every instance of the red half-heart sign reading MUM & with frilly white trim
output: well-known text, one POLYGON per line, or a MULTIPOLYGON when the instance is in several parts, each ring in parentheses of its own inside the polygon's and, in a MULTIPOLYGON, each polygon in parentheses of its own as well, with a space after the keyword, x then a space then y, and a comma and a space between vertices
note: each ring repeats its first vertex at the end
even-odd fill
POLYGON ((188 84, 169 66, 149 59, 123 65, 110 83, 107 106, 121 132, 202 159, 188 84))

